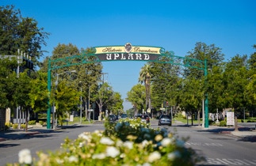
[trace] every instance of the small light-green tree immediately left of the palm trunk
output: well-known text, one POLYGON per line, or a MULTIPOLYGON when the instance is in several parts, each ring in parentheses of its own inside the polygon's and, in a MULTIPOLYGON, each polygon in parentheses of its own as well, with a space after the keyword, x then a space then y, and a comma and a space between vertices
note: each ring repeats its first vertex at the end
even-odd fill
POLYGON ((127 98, 129 102, 133 104, 133 107, 135 109, 134 113, 137 115, 138 113, 143 113, 143 105, 146 94, 145 94, 145 87, 143 85, 137 84, 132 87, 132 89, 127 92, 127 98))

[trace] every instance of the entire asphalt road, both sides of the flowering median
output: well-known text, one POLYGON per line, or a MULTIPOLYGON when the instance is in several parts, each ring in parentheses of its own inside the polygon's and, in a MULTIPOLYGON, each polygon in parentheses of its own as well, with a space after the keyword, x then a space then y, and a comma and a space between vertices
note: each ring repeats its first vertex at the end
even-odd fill
MULTIPOLYGON (((200 126, 186 126, 183 123, 173 123, 173 126, 158 126, 151 120, 152 127, 166 127, 178 138, 189 138, 187 147, 195 149, 207 160, 200 165, 256 165, 256 141, 239 138, 230 134, 220 134, 218 130, 204 130, 200 126)), ((84 131, 104 130, 103 124, 74 126, 55 130, 51 133, 17 137, 0 142, 0 166, 17 162, 17 154, 21 149, 30 149, 32 157, 36 152, 59 149, 64 138, 75 139, 84 131)))

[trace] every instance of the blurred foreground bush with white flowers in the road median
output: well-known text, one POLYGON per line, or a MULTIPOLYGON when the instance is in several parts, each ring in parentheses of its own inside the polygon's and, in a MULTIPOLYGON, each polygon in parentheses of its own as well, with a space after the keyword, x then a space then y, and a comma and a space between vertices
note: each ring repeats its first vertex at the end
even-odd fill
POLYGON ((85 132, 75 141, 67 138, 56 152, 38 153, 38 160, 24 153, 19 154, 21 165, 189 166, 203 160, 167 130, 155 130, 139 119, 105 123, 105 131, 85 132))

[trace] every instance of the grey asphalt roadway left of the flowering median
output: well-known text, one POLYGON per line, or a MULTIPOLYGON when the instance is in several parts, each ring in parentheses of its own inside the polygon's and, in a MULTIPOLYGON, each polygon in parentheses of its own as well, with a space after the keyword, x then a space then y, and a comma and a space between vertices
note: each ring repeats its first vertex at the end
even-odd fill
POLYGON ((13 134, 13 139, 0 142, 0 166, 6 163, 18 162, 18 153, 21 149, 30 149, 32 157, 37 157, 36 152, 38 151, 48 152, 48 150, 59 149, 65 138, 75 139, 82 132, 94 130, 104 130, 104 126, 102 124, 72 126, 50 133, 32 134, 25 137, 17 137, 13 134))

